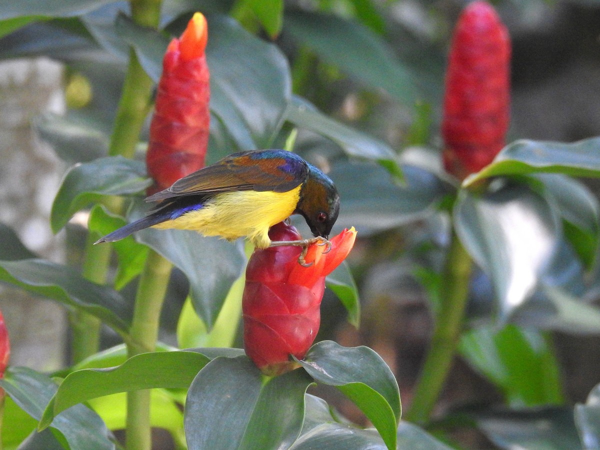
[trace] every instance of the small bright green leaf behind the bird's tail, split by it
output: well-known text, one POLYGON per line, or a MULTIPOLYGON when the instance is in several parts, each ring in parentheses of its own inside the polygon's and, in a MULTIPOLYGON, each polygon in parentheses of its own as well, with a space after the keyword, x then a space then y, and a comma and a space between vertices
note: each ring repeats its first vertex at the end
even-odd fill
MULTIPOLYGON (((89 232, 95 232, 98 238, 127 224, 124 218, 109 214, 103 206, 96 205, 89 214, 89 232)), ((141 274, 148 256, 148 247, 139 244, 133 236, 113 242, 119 265, 115 275, 115 289, 125 287, 133 278, 141 274)))

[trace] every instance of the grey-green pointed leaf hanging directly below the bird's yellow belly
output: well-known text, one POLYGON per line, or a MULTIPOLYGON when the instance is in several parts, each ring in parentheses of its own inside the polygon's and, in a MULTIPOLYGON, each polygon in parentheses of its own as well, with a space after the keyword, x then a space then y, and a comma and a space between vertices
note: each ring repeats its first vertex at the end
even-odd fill
POLYGON ((136 239, 184 272, 194 308, 212 328, 231 285, 244 269, 243 243, 205 238, 187 230, 145 229, 136 233, 136 239))

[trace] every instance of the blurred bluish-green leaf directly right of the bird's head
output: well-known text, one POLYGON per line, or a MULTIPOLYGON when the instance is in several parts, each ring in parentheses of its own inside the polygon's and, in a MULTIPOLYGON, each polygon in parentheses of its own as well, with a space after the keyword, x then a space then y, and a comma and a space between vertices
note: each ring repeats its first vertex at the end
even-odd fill
POLYGON ((360 236, 428 217, 451 188, 434 173, 402 166, 397 184, 383 167, 368 163, 337 163, 329 176, 343 199, 334 233, 355 227, 360 236))

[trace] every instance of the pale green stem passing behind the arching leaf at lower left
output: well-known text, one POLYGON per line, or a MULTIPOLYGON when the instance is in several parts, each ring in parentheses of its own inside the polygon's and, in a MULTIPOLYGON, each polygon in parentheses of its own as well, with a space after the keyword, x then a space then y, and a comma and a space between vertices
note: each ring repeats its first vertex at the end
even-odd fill
MULTIPOLYGON (((153 352, 158 338, 160 311, 172 265, 155 251, 150 251, 137 287, 136 303, 131 322, 127 353, 131 358, 139 353, 153 352)), ((127 450, 152 448, 150 425, 150 391, 127 394, 127 450)))

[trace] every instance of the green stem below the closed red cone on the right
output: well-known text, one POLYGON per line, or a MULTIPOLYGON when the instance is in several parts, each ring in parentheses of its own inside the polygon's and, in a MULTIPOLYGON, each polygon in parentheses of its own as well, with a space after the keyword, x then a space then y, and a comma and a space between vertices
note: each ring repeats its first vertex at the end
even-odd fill
POLYGON ((431 347, 425 357, 415 395, 405 417, 411 422, 422 424, 428 421, 448 376, 463 328, 471 267, 472 260, 469 254, 453 232, 446 256, 440 308, 431 347))

